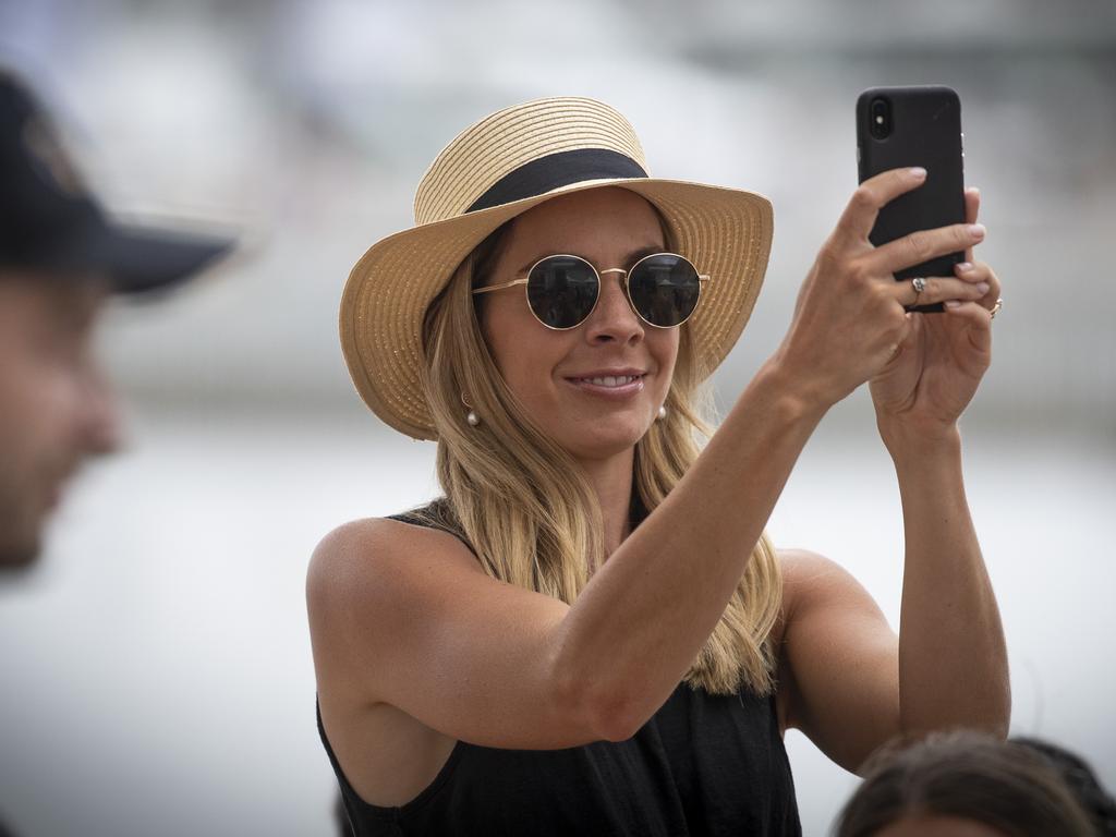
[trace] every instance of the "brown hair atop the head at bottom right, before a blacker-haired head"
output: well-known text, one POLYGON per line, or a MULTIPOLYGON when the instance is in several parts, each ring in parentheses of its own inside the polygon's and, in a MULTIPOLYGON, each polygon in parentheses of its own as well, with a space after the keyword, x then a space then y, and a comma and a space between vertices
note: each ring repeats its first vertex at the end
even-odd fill
POLYGON ((1094 834, 1045 758, 983 733, 933 733, 891 745, 866 770, 837 818, 836 837, 870 837, 906 816, 969 819, 1009 837, 1094 834))

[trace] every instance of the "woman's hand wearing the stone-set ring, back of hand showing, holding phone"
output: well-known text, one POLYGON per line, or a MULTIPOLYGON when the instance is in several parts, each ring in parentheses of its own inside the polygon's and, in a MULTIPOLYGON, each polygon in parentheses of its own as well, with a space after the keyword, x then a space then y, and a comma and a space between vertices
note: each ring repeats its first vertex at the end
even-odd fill
MULTIPOLYGON (((895 271, 963 251, 983 238, 980 225, 953 224, 874 247, 868 233, 879 210, 925 180, 922 169, 893 169, 866 180, 818 252, 772 357, 808 404, 828 410, 876 375, 903 343, 911 327, 904 306, 914 304, 915 292, 911 282, 895 281, 895 271)), ((933 277, 918 305, 981 296, 971 282, 933 277)))

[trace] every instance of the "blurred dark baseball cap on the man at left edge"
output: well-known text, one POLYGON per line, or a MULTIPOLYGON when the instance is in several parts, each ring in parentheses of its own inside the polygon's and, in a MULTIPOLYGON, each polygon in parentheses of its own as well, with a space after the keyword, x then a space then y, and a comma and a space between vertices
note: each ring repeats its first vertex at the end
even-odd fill
POLYGON ((75 172, 35 95, 0 68, 0 268, 96 272, 114 290, 167 288, 233 239, 108 218, 75 172))

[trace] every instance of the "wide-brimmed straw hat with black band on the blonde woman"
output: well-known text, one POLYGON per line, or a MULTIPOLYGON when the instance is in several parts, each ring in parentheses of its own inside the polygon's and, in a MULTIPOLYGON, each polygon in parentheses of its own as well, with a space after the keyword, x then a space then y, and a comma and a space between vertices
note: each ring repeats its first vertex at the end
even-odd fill
POLYGON ((500 224, 557 194, 623 186, 662 213, 677 250, 712 277, 682 326, 712 372, 743 330, 771 248, 771 203, 735 189, 647 176, 632 125, 602 102, 546 98, 465 128, 415 194, 415 225, 376 242, 349 273, 340 337, 357 391, 415 439, 436 439, 422 386, 426 307, 500 224))

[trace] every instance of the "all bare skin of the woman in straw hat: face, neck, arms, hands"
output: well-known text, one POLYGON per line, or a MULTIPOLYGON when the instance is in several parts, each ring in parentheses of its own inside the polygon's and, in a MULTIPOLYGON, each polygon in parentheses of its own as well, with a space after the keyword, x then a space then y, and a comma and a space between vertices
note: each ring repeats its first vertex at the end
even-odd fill
MULTIPOLYGON (((878 209, 923 180, 887 172, 856 191, 804 281, 785 339, 634 532, 632 446, 666 393, 676 343, 642 326, 610 282, 590 318, 562 333, 533 319, 519 288, 485 295, 481 321, 497 365, 585 469, 609 554, 567 606, 488 578, 443 532, 359 520, 323 540, 307 581, 318 695, 343 769, 367 801, 413 799, 456 740, 549 749, 633 735, 723 613, 818 422, 868 382, 903 497, 902 638, 836 562, 781 550, 780 721, 854 771, 901 732, 1007 730, 1003 634, 964 500, 956 430, 988 364, 999 281, 983 264, 932 278, 920 302, 965 301, 907 316, 914 291, 893 272, 971 248, 983 231, 960 224, 882 248, 867 240, 878 209), (917 321, 924 317, 942 321, 917 321), (610 362, 647 365, 637 397, 598 403, 566 386, 570 374, 610 362)), ((977 199, 968 201, 974 220, 977 199)), ((654 220, 620 190, 555 199, 517 221, 488 281, 509 281, 562 251, 598 269, 627 267, 633 250, 662 243, 654 220)))

